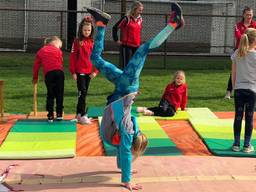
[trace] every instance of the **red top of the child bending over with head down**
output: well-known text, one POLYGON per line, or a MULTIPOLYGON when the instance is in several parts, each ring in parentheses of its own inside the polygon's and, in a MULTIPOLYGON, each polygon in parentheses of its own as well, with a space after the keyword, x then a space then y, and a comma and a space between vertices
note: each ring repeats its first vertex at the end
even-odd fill
POLYGON ((63 71, 62 51, 54 45, 48 44, 43 46, 36 54, 33 68, 33 79, 38 79, 40 66, 43 67, 44 76, 53 70, 63 71))

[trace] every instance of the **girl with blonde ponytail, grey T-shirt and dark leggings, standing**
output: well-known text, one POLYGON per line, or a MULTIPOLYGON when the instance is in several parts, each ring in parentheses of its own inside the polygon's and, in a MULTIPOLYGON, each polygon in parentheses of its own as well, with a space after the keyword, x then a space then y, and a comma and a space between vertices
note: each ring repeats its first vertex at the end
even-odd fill
POLYGON ((240 151, 240 134, 245 112, 243 152, 251 153, 253 116, 256 101, 256 29, 248 28, 241 36, 238 49, 232 55, 232 84, 234 85, 235 119, 233 151, 240 151))

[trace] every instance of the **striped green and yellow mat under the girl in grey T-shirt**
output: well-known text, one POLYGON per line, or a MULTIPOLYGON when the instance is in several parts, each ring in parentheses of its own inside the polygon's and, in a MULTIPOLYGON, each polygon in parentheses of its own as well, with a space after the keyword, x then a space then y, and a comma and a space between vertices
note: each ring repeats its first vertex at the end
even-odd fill
MULTIPOLYGON (((256 153, 233 152, 233 119, 190 119, 190 123, 203 139, 208 149, 218 156, 256 157, 256 153)), ((244 125, 241 131, 241 149, 244 138, 244 125)), ((256 146, 255 133, 251 143, 256 146)))

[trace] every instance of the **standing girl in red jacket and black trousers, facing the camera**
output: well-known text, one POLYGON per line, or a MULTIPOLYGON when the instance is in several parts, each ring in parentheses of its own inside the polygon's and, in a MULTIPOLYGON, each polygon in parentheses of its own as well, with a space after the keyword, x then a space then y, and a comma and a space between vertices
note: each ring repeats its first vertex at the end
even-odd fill
POLYGON ((92 18, 86 16, 79 24, 78 37, 73 42, 69 60, 70 72, 73 80, 77 82, 78 101, 76 118, 81 124, 91 123, 85 110, 86 96, 90 80, 98 73, 90 60, 93 48, 93 31, 92 18))

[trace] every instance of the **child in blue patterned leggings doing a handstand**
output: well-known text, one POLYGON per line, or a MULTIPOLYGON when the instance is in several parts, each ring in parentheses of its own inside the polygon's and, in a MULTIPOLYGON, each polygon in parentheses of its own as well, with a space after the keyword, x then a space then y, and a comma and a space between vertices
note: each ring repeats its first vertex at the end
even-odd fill
POLYGON ((104 110, 100 126, 101 136, 105 140, 102 130, 110 130, 111 127, 118 129, 120 142, 118 145, 114 145, 117 147, 117 162, 122 171, 122 184, 130 191, 142 188, 138 184, 131 184, 133 148, 139 142, 143 146, 138 149, 140 154, 144 151, 146 145, 146 139, 140 139, 143 138, 143 134, 137 131, 139 127, 136 118, 131 115, 131 107, 139 90, 140 73, 148 52, 159 47, 173 31, 184 24, 180 6, 171 3, 171 8, 172 14, 167 26, 154 38, 141 45, 123 70, 104 60, 101 55, 104 47, 106 25, 111 16, 96 8, 87 8, 87 11, 94 17, 97 26, 91 59, 97 69, 115 86, 113 93, 107 98, 108 106, 104 110), (120 102, 119 99, 122 101, 121 106, 116 105, 120 102))

